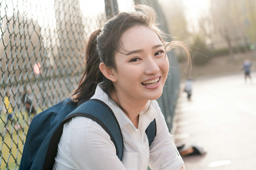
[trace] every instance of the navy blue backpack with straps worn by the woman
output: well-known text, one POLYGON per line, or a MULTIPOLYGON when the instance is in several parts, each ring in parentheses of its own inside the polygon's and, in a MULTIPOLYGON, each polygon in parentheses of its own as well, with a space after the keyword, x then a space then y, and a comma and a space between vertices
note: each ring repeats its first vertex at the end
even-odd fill
MULTIPOLYGON (((111 108, 98 99, 75 103, 67 98, 33 118, 23 147, 19 170, 52 170, 63 126, 75 116, 90 118, 101 125, 111 137, 116 147, 116 155, 122 159, 122 132, 111 108)), ((151 144, 156 135, 155 119, 145 132, 148 143, 151 144)))

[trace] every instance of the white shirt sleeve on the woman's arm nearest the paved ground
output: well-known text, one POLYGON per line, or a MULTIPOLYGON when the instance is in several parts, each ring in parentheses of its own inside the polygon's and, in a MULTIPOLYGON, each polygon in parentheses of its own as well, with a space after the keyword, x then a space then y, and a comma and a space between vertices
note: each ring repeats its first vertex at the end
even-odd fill
POLYGON ((151 170, 185 170, 184 162, 172 140, 159 105, 154 101, 152 106, 157 111, 157 134, 149 147, 149 167, 151 170))

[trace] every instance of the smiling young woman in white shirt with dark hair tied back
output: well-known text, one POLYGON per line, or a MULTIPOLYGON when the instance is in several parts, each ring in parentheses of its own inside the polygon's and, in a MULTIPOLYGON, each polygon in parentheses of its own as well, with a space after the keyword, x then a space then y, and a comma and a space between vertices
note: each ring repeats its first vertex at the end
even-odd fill
MULTIPOLYGON (((166 81, 169 60, 154 9, 119 13, 91 34, 85 71, 71 98, 99 99, 119 122, 124 152, 120 161, 108 133, 91 119, 75 117, 64 125, 54 170, 184 170, 156 102, 166 81), (149 146, 145 129, 156 119, 149 146)), ((171 44, 172 45, 172 44, 171 44)))

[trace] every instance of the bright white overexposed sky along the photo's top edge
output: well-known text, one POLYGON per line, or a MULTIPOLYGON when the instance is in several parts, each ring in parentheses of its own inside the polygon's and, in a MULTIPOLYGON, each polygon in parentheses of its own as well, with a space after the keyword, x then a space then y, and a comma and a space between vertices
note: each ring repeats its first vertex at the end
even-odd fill
MULTIPOLYGON (((168 0, 160 0, 162 2, 168 1, 168 0)), ((210 0, 182 0, 184 11, 186 14, 186 19, 188 21, 188 28, 189 31, 197 30, 197 20, 200 17, 200 15, 204 14, 204 11, 208 11, 210 6, 210 0)), ((16 0, 3 0, 0 6, 1 11, 5 11, 6 5, 8 6, 8 14, 12 15, 12 9, 13 7, 16 8, 19 11, 26 10, 28 11, 28 16, 33 15, 34 18, 38 17, 38 20, 40 22, 43 21, 45 17, 48 18, 54 18, 55 13, 52 8, 54 8, 54 1, 52 0, 26 0, 26 1, 18 1, 16 0), (48 2, 47 2, 48 1, 48 2), (26 7, 22 6, 22 3, 26 2, 26 7), (18 5, 18 7, 17 7, 18 5), (39 6, 38 6, 39 5, 39 6), (46 10, 47 9, 47 10, 46 10), (50 11, 48 11, 50 10, 50 11), (30 12, 29 12, 30 11, 30 12), (47 16, 48 15, 48 16, 47 16)), ((131 10, 133 6, 133 0, 118 0, 119 3, 119 11, 127 11, 131 10)), ((80 7, 81 11, 84 14, 84 16, 90 16, 97 15, 99 13, 104 12, 105 3, 104 0, 80 0, 80 7), (97 7, 96 7, 97 6, 97 7)), ((3 17, 5 13, 1 12, 1 17, 3 17)), ((50 19, 51 20, 51 19, 50 19)), ((52 23, 52 22, 50 22, 52 23)))

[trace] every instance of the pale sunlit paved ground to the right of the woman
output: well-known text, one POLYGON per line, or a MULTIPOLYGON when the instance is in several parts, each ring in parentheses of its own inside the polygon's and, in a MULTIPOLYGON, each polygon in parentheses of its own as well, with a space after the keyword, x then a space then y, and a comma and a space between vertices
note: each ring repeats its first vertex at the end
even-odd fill
POLYGON ((183 157, 186 170, 256 170, 256 72, 251 76, 253 84, 242 73, 197 79, 191 101, 181 95, 176 143, 207 152, 183 157))

